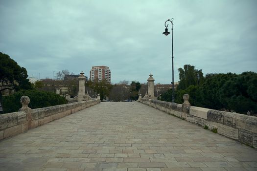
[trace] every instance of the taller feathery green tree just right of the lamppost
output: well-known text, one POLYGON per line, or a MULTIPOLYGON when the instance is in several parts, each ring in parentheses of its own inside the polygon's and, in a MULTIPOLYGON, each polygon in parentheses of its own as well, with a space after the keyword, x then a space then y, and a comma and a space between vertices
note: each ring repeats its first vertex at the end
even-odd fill
POLYGON ((179 68, 179 85, 177 89, 187 89, 190 85, 202 85, 204 76, 202 69, 195 69, 193 65, 185 64, 184 69, 179 68))

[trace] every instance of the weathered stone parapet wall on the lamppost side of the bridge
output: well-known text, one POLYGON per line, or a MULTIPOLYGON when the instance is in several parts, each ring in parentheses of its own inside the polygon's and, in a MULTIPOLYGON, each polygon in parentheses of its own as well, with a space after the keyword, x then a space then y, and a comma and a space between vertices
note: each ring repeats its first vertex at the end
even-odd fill
POLYGON ((257 117, 202 107, 182 107, 181 104, 155 99, 140 98, 140 103, 157 108, 168 114, 183 118, 191 123, 217 132, 257 148, 257 117))

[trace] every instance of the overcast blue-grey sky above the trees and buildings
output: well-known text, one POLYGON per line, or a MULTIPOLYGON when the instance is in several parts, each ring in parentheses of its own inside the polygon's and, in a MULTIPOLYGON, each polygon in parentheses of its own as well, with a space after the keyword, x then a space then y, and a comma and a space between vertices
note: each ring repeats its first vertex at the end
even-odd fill
POLYGON ((257 72, 257 0, 0 0, 0 51, 28 75, 106 65, 112 83, 172 81, 194 65, 207 73, 257 72), (169 31, 171 31, 169 24, 169 31))

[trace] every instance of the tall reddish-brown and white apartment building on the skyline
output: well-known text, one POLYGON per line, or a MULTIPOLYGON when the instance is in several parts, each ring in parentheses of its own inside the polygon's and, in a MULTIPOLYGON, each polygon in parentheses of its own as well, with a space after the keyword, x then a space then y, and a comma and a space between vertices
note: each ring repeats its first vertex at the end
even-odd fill
POLYGON ((90 70, 90 80, 106 80, 111 83, 111 70, 108 66, 92 66, 90 70))

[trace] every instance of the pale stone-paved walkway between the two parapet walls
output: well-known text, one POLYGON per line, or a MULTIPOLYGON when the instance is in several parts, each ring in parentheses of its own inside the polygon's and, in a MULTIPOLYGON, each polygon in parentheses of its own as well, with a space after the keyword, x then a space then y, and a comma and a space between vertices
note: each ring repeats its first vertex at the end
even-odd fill
POLYGON ((257 171, 257 150, 138 102, 0 141, 0 171, 257 171))

